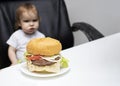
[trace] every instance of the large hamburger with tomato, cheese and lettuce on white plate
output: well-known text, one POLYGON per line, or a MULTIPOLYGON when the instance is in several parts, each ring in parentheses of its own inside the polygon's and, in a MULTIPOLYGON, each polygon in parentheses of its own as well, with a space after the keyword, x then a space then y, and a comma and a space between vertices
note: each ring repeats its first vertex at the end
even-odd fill
POLYGON ((68 66, 65 58, 60 55, 62 45, 54 38, 33 38, 28 42, 26 50, 29 71, 57 73, 61 67, 68 66))

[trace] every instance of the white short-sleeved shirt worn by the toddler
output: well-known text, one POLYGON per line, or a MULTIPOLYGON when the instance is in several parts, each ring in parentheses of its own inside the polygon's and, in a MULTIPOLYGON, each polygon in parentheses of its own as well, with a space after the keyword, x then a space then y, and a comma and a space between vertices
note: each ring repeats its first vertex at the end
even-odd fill
POLYGON ((29 35, 24 33, 22 30, 15 31, 10 38, 7 40, 7 44, 16 48, 16 57, 18 60, 24 61, 24 53, 26 52, 26 44, 32 38, 42 38, 45 37, 39 31, 36 31, 34 34, 29 35))

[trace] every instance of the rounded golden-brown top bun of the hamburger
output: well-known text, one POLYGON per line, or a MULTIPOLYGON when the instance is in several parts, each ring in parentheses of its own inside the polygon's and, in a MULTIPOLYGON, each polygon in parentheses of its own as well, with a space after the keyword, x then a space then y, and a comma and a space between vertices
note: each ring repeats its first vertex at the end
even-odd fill
POLYGON ((27 52, 33 55, 52 56, 59 54, 62 49, 61 43, 53 38, 33 38, 27 46, 27 52))

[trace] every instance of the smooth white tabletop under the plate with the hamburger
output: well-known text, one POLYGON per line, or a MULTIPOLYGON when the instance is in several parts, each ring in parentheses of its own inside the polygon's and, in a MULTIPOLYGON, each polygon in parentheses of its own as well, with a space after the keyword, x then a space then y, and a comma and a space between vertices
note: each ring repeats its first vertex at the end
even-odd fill
POLYGON ((120 86, 120 33, 66 49, 71 70, 56 77, 23 74, 15 65, 0 71, 0 86, 120 86))

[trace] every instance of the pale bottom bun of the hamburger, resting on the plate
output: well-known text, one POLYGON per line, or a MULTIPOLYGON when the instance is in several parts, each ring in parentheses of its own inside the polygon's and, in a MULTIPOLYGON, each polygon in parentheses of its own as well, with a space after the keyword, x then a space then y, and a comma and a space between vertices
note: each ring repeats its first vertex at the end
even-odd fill
POLYGON ((57 72, 60 72, 60 61, 50 66, 36 66, 36 65, 33 65, 31 61, 27 61, 27 67, 28 67, 28 70, 32 72, 57 73, 57 72))

